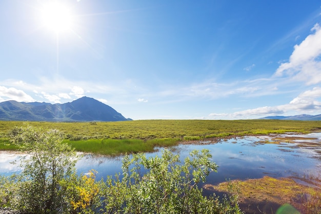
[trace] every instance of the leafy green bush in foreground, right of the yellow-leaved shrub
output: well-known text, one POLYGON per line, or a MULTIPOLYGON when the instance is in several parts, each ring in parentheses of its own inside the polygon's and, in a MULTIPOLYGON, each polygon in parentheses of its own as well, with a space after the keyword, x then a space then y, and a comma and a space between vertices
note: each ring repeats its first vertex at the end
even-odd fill
POLYGON ((184 164, 168 150, 161 158, 142 153, 123 160, 123 174, 108 177, 103 189, 102 213, 241 213, 235 200, 202 195, 205 182, 217 165, 211 154, 192 151, 184 164))

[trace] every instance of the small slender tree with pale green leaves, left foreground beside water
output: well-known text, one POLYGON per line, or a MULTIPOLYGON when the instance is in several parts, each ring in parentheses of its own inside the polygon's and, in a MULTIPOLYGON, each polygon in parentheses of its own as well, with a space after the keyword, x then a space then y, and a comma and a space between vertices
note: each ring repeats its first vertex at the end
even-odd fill
POLYGON ((11 131, 12 142, 29 154, 19 176, 17 208, 32 213, 61 212, 65 205, 59 182, 75 173, 76 153, 63 133, 30 125, 11 131))

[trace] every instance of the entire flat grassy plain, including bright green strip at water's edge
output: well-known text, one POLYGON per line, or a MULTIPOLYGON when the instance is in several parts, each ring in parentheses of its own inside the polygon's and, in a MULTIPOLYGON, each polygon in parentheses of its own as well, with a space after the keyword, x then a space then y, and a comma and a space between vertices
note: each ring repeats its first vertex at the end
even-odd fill
MULTIPOLYGON (((7 133, 23 126, 21 121, 0 121, 0 150, 15 150, 7 133)), ((119 154, 152 151, 155 146, 180 141, 206 140, 254 134, 312 132, 321 130, 321 121, 281 120, 139 120, 122 122, 28 122, 34 127, 58 129, 66 143, 78 151, 119 154)))

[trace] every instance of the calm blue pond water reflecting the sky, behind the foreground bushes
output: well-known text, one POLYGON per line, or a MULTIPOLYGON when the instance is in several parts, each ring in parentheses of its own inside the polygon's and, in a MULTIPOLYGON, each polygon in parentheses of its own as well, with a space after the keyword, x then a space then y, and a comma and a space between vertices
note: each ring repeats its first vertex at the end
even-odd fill
MULTIPOLYGON (((200 142, 199 145, 179 145, 171 149, 174 153, 179 153, 183 161, 190 151, 204 148, 210 150, 213 155, 212 161, 219 166, 216 173, 210 173, 206 182, 208 184, 215 185, 229 179, 262 178, 267 175, 278 178, 321 174, 321 133, 245 137, 215 144, 200 142), (274 137, 284 138, 284 141, 274 144, 274 137), (290 137, 298 140, 292 139, 291 143, 286 143, 290 137), (267 141, 270 143, 267 144, 267 141)), ((161 155, 161 150, 148 153, 147 156, 161 155)), ((0 153, 0 174, 9 175, 21 170, 10 164, 13 160, 18 160, 18 154, 0 153)), ((93 155, 85 155, 76 164, 79 173, 86 173, 90 169, 98 171, 97 179, 113 176, 121 172, 121 167, 122 157, 106 158, 93 155)))

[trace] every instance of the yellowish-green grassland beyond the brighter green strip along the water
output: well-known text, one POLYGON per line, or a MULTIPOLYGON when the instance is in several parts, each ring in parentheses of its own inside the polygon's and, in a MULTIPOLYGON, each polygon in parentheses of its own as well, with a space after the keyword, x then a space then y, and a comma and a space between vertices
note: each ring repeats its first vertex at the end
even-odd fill
MULTIPOLYGON (((321 121, 280 120, 141 120, 120 122, 28 122, 35 127, 58 129, 72 139, 162 139, 215 135, 247 135, 321 130, 321 121)), ((0 121, 0 137, 24 122, 0 121)))

